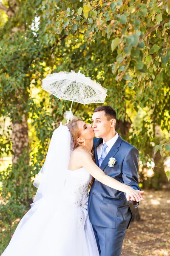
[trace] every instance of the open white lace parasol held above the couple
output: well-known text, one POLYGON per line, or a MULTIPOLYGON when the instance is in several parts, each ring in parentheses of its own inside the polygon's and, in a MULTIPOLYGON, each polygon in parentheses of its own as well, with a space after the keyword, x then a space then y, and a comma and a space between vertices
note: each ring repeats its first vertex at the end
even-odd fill
MULTIPOLYGON (((84 74, 71 72, 59 72, 47 75, 42 80, 42 89, 53 94, 58 99, 70 100, 81 104, 105 103, 107 89, 99 83, 86 77, 84 74)), ((71 108, 72 108, 71 104, 71 108)), ((65 112, 65 119, 71 119, 71 110, 65 112)))

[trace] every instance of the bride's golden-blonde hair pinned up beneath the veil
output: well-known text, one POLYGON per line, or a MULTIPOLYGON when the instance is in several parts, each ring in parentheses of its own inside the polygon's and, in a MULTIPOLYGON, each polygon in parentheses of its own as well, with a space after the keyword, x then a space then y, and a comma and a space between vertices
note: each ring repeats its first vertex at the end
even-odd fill
POLYGON ((74 117, 68 124, 67 127, 71 133, 72 139, 73 139, 73 150, 76 149, 77 147, 81 146, 82 144, 79 143, 77 140, 80 137, 80 131, 77 126, 77 122, 82 121, 80 117, 74 117))

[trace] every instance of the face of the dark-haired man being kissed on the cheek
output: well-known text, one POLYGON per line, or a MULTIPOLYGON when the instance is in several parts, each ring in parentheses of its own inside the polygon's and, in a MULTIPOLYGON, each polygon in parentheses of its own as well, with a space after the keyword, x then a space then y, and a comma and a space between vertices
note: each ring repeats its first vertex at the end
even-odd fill
POLYGON ((105 116, 105 111, 95 112, 91 118, 95 137, 103 137, 111 131, 111 120, 105 116))

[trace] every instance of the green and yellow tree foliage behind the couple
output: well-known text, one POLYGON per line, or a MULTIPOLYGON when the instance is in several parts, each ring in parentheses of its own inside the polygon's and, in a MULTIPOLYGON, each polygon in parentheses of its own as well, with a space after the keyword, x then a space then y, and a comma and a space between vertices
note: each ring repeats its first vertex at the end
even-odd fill
MULTIPOLYGON (((106 87, 117 131, 139 149, 140 186, 168 188, 170 1, 3 0, 0 18, 0 252, 71 105, 41 90, 48 73, 80 69, 106 87)), ((73 112, 91 122, 96 107, 73 112)))

